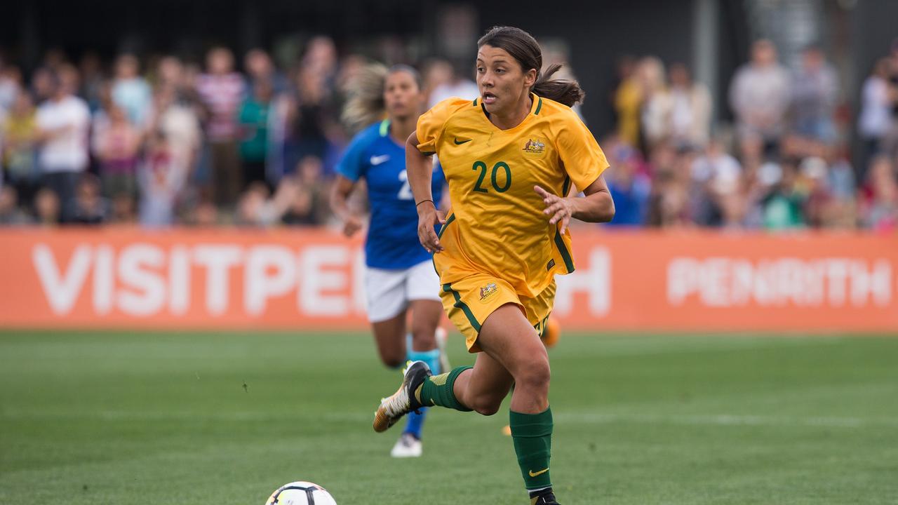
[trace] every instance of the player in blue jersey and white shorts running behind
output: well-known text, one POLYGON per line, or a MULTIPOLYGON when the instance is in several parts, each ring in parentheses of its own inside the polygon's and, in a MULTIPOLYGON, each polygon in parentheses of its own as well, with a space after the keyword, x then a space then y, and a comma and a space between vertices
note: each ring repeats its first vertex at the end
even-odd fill
MULTIPOLYGON (((344 120, 359 123, 366 118, 383 118, 384 111, 387 119, 353 138, 337 166, 331 207, 343 219, 343 233, 355 235, 362 224, 349 209, 347 199, 357 182, 365 179, 371 204, 371 224, 365 240, 365 295, 368 320, 383 364, 395 368, 409 359, 440 369, 436 333, 445 335, 439 328, 443 315, 440 281, 430 253, 418 242, 418 214, 405 170, 405 140, 414 132, 425 102, 420 77, 410 66, 393 66, 389 70, 369 66, 357 85, 344 111, 344 120), (409 311, 410 349, 406 336, 409 311)), ((441 194, 443 173, 434 173, 429 181, 427 191, 441 194)), ((421 456, 423 422, 423 411, 409 416, 392 448, 392 456, 421 456)))

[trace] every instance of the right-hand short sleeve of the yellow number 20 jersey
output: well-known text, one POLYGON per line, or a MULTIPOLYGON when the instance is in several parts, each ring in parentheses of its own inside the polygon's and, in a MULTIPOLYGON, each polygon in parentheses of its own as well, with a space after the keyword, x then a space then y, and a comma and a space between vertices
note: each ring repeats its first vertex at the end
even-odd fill
POLYGON ((608 168, 602 147, 573 112, 564 121, 557 142, 561 163, 577 190, 585 190, 608 168))

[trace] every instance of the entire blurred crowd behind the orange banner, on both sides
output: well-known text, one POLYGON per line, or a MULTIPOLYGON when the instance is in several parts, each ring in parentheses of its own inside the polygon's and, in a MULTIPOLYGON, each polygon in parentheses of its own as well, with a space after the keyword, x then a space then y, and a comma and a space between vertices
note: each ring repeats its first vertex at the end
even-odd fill
MULTIPOLYGON (((732 125, 712 124, 688 67, 622 58, 616 128, 594 131, 612 164, 611 226, 898 228, 891 49, 847 111, 821 49, 790 70, 759 40, 728 90, 732 125)), ((316 37, 295 59, 276 66, 251 49, 238 61, 219 47, 202 64, 87 54, 75 65, 53 50, 27 78, 0 60, 0 225, 327 225, 354 133, 340 111, 365 58, 316 37)), ((430 105, 478 94, 448 61, 422 70, 430 105)))

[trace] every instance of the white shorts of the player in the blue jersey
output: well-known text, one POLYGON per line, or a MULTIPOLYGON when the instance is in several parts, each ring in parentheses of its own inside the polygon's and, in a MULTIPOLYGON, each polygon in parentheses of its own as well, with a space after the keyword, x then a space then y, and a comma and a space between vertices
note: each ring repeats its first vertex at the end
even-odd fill
POLYGON ((440 301, 440 278, 432 261, 421 261, 406 270, 365 267, 368 321, 379 323, 395 317, 411 300, 440 301))

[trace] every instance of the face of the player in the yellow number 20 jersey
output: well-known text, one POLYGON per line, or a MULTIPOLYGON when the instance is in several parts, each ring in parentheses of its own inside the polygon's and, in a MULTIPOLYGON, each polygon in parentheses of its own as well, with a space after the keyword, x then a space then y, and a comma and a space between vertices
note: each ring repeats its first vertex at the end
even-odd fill
POLYGON ((490 114, 515 111, 536 81, 536 70, 526 72, 505 49, 484 45, 477 51, 477 87, 490 114))

